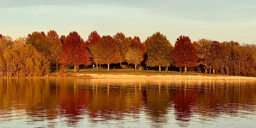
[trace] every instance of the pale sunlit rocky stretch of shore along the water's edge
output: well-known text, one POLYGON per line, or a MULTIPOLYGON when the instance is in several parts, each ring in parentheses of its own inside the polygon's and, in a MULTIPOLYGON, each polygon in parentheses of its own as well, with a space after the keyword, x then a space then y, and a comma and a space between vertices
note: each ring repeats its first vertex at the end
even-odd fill
POLYGON ((112 74, 76 74, 89 76, 91 79, 168 79, 168 80, 256 80, 246 76, 202 76, 202 75, 112 75, 112 74))

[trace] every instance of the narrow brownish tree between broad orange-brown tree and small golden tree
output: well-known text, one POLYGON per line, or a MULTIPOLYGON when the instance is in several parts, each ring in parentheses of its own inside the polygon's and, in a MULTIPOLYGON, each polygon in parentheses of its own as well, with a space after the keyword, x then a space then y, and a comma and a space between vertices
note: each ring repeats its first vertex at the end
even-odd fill
POLYGON ((113 35, 113 38, 115 40, 115 43, 118 46, 119 53, 122 57, 122 60, 120 62, 120 66, 122 66, 122 62, 126 61, 125 54, 128 51, 129 44, 127 44, 127 42, 125 42, 125 39, 126 39, 125 34, 122 32, 116 33, 115 35, 113 35))

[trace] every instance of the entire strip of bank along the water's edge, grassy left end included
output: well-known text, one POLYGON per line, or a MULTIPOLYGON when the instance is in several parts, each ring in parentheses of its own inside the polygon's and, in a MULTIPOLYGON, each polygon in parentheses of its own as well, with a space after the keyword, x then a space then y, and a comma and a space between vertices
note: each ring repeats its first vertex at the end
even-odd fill
POLYGON ((49 75, 34 77, 7 77, 0 78, 28 78, 28 79, 143 79, 143 80, 256 80, 248 76, 202 76, 202 75, 132 75, 132 74, 95 74, 80 73, 69 75, 49 75))

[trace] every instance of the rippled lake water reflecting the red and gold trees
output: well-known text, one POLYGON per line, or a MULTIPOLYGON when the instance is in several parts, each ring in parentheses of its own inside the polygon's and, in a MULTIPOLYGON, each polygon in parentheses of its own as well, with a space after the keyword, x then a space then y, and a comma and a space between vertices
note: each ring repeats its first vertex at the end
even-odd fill
POLYGON ((255 128, 256 81, 0 79, 0 127, 255 128))

